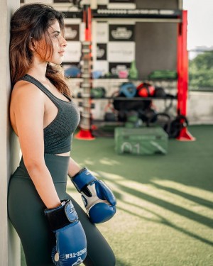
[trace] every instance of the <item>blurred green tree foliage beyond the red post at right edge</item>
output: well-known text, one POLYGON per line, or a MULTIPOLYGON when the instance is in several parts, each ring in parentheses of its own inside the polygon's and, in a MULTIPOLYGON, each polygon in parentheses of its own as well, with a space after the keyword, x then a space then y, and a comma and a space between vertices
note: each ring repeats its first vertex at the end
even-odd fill
POLYGON ((213 51, 197 55, 189 63, 190 87, 212 87, 213 89, 213 51))

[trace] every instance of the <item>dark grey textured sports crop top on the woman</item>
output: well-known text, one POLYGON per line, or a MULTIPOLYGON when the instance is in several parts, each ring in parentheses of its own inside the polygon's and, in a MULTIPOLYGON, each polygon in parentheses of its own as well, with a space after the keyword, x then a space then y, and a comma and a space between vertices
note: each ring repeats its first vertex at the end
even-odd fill
POLYGON ((80 122, 80 111, 68 96, 70 101, 63 101, 54 96, 37 79, 26 74, 21 80, 35 84, 57 106, 58 114, 48 126, 43 129, 45 153, 67 153, 71 150, 72 135, 80 122))

